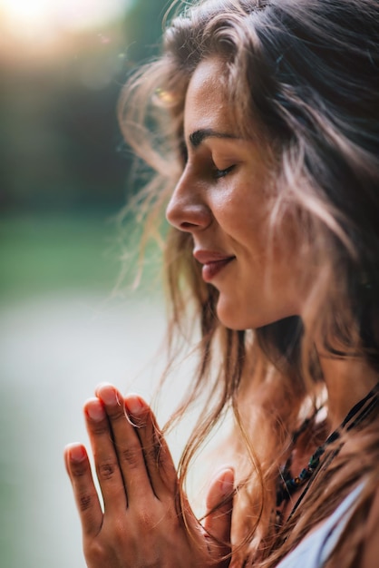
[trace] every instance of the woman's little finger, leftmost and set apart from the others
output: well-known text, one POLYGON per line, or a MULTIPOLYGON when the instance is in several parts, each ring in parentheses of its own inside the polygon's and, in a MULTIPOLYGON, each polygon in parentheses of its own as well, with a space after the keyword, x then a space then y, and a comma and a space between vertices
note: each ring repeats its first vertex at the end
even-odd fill
POLYGON ((102 507, 93 484, 87 452, 81 444, 64 449, 64 462, 73 485, 73 496, 79 511, 84 535, 98 534, 102 527, 102 507))

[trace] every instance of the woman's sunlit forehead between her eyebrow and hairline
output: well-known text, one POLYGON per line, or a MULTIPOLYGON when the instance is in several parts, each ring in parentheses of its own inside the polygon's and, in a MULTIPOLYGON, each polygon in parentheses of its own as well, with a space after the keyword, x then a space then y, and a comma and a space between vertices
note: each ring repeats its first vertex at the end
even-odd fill
POLYGON ((184 131, 186 138, 199 129, 230 130, 232 116, 228 106, 225 63, 206 59, 193 73, 186 94, 184 131))

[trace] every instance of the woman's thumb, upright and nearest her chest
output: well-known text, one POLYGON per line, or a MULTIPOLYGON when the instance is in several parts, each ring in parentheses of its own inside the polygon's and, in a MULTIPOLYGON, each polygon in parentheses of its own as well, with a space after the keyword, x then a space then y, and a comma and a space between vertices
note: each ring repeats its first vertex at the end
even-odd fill
POLYGON ((219 472, 209 487, 207 514, 204 528, 214 541, 220 556, 230 552, 230 527, 233 510, 234 471, 230 468, 219 472))

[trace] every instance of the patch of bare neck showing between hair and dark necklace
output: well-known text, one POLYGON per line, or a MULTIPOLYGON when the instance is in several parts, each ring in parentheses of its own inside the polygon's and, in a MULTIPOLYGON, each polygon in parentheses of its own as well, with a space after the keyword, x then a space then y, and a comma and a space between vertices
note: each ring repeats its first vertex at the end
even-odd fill
POLYGON ((319 355, 328 394, 328 422, 331 431, 344 420, 350 408, 376 385, 377 371, 363 358, 319 355))

